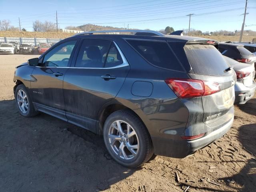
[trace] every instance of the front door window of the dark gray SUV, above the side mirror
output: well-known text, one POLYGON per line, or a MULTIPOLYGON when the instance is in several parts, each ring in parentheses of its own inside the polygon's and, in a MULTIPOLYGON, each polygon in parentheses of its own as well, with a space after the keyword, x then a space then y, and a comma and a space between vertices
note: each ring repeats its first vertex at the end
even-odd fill
POLYGON ((66 67, 72 54, 76 40, 62 43, 44 56, 41 66, 47 67, 66 67))

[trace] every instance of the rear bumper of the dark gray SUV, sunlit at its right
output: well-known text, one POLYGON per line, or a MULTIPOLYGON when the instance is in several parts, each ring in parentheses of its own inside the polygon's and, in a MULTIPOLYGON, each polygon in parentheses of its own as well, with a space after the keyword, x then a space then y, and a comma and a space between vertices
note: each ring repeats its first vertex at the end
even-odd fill
POLYGON ((210 132, 209 134, 206 133, 206 136, 196 139, 196 140, 172 140, 168 138, 161 138, 151 136, 153 145, 154 145, 154 152, 157 155, 173 157, 173 158, 184 158, 196 150, 204 148, 208 146, 212 142, 218 140, 222 137, 228 130, 231 128, 234 121, 234 115, 232 118, 226 122, 220 128, 210 132))

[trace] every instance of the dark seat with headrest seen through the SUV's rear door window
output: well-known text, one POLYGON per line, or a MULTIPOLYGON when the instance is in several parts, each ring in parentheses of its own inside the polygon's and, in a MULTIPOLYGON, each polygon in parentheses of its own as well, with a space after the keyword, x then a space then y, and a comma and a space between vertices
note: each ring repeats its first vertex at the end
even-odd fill
POLYGON ((97 46, 90 46, 86 50, 87 57, 90 59, 86 63, 87 67, 101 68, 103 67, 102 55, 100 49, 97 46))

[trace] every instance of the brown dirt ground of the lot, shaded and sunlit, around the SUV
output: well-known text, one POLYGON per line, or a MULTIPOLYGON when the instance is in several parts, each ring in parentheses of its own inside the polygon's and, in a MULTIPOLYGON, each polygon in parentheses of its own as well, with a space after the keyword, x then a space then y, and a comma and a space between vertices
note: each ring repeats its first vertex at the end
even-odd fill
POLYGON ((235 106, 232 128, 210 146, 184 159, 156 156, 130 169, 112 160, 103 138, 92 132, 46 114, 20 116, 13 74, 35 56, 0 55, 1 192, 176 192, 187 186, 187 192, 256 191, 256 96, 235 106))

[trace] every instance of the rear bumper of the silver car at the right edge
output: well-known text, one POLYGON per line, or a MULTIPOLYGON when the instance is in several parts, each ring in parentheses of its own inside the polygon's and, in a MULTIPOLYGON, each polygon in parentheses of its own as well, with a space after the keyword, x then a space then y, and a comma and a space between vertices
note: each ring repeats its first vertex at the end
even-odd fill
POLYGON ((235 84, 235 103, 236 104, 245 104, 248 100, 250 100, 255 93, 256 83, 253 82, 250 87, 244 86, 243 83, 235 84))

